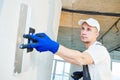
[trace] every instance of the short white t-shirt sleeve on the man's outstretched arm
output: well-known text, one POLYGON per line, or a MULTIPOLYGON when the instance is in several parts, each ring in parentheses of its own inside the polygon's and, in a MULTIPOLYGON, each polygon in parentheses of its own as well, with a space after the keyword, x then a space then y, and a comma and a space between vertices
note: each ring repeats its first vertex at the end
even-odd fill
POLYGON ((101 45, 91 46, 85 52, 92 56, 94 64, 99 64, 108 57, 107 49, 101 45))

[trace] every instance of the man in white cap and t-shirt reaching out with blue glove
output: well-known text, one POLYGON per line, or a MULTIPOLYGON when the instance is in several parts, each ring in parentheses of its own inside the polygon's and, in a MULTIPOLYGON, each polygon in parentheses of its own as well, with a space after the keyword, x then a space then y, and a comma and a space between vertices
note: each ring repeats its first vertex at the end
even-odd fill
POLYGON ((81 41, 86 47, 83 52, 61 45, 45 33, 25 34, 23 37, 31 39, 33 43, 24 45, 39 52, 50 51, 72 64, 86 65, 90 79, 85 79, 83 76, 83 80, 112 80, 110 55, 103 44, 97 41, 100 32, 99 22, 94 18, 88 18, 79 20, 78 24, 81 26, 81 41))

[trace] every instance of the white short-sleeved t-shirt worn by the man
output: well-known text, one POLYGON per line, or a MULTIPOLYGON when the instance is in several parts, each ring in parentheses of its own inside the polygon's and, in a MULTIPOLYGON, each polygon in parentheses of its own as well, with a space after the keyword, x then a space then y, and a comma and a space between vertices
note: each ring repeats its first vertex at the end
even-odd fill
POLYGON ((95 42, 85 52, 88 52, 94 60, 94 64, 88 65, 91 80, 112 80, 110 55, 107 49, 100 42, 95 42))

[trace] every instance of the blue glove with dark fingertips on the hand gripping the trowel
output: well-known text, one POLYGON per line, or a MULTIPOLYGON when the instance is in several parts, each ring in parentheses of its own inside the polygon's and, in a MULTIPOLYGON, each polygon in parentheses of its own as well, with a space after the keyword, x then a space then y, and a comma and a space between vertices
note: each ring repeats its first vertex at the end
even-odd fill
POLYGON ((33 41, 24 44, 26 48, 35 48, 39 52, 51 51, 53 54, 58 51, 59 43, 51 40, 45 33, 25 34, 23 37, 33 41))

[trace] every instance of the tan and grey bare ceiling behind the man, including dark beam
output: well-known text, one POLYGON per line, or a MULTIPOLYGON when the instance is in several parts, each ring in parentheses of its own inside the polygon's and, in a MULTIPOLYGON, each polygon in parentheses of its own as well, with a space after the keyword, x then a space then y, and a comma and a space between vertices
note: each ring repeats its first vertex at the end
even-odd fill
POLYGON ((76 49, 74 45, 76 42, 76 45, 80 45, 78 45, 80 50, 84 50, 82 42, 78 43, 78 21, 90 17, 100 23, 98 40, 110 52, 120 51, 120 0, 62 0, 58 41, 63 45, 73 45, 70 47, 73 49, 76 49))

